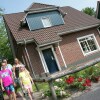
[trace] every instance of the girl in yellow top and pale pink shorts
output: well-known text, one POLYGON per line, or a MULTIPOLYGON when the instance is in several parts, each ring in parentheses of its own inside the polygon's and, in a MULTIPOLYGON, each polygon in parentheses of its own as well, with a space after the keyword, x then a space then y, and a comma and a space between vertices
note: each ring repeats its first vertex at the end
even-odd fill
POLYGON ((25 90, 27 91, 30 100, 32 100, 32 92, 33 92, 32 83, 33 83, 33 80, 32 80, 29 72, 26 70, 24 65, 20 66, 19 78, 20 78, 21 84, 24 86, 25 90))

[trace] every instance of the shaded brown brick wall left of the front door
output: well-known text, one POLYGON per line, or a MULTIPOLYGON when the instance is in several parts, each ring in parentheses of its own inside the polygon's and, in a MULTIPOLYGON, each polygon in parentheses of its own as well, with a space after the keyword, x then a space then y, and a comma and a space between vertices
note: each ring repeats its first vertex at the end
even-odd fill
MULTIPOLYGON (((27 51, 28 51, 28 54, 30 57, 30 61, 31 61, 31 64, 32 64, 35 74, 37 75, 37 74, 43 73, 44 70, 43 70, 43 66, 42 66, 39 54, 36 50, 36 45, 34 43, 27 44, 26 48, 27 48, 27 51)), ((19 45, 17 55, 18 55, 17 57, 19 58, 19 60, 21 60, 22 62, 23 62, 23 59, 22 59, 22 56, 23 56, 26 67, 32 73, 32 69, 31 69, 27 54, 25 52, 24 46, 19 45)))

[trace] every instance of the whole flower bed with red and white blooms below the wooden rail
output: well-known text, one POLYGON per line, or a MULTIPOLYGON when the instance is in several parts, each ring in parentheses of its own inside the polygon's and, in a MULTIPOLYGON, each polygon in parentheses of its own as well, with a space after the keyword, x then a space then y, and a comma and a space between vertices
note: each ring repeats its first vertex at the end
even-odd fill
MULTIPOLYGON (((93 83, 99 81, 100 64, 96 64, 80 72, 67 75, 54 81, 54 88, 59 98, 68 98, 73 94, 83 93, 84 90, 91 89, 93 83)), ((50 90, 44 91, 45 97, 50 97, 50 90)))

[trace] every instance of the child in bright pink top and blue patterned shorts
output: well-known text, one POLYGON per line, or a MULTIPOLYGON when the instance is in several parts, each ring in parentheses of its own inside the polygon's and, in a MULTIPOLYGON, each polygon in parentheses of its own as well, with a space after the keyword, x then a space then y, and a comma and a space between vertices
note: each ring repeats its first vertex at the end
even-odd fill
POLYGON ((16 100, 12 72, 9 69, 6 69, 5 63, 2 63, 2 70, 0 71, 0 83, 2 90, 6 91, 7 95, 9 96, 9 99, 12 100, 13 96, 13 100, 16 100))

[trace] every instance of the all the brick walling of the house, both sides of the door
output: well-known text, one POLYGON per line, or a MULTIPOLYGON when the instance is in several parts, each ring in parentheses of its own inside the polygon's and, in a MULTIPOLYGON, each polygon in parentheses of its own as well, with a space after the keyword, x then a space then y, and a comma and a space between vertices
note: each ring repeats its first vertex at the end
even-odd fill
MULTIPOLYGON (((59 43, 59 45, 60 45, 63 57, 64 57, 67 65, 77 62, 80 59, 84 59, 84 58, 88 57, 88 56, 83 55, 81 48, 78 44, 77 38, 85 36, 85 35, 89 35, 89 34, 94 34, 100 45, 100 37, 99 37, 99 33, 96 30, 96 28, 92 28, 92 29, 88 29, 88 30, 84 30, 84 31, 80 31, 80 32, 75 32, 72 34, 62 36, 62 41, 59 43)), ((56 52, 58 61, 60 63, 60 66, 64 66, 64 62, 61 58, 58 46, 56 45, 54 47, 55 47, 55 52, 56 52)), ((33 69, 35 71, 35 74, 43 73, 44 70, 43 70, 43 66, 42 66, 38 51, 36 50, 36 45, 34 43, 27 44, 27 50, 28 50, 30 60, 31 60, 33 69)), ((21 55, 23 54, 22 48, 20 48, 18 51, 19 51, 18 55, 20 55, 20 57, 21 57, 21 55)), ((24 55, 25 55, 25 52, 24 52, 24 55)))

